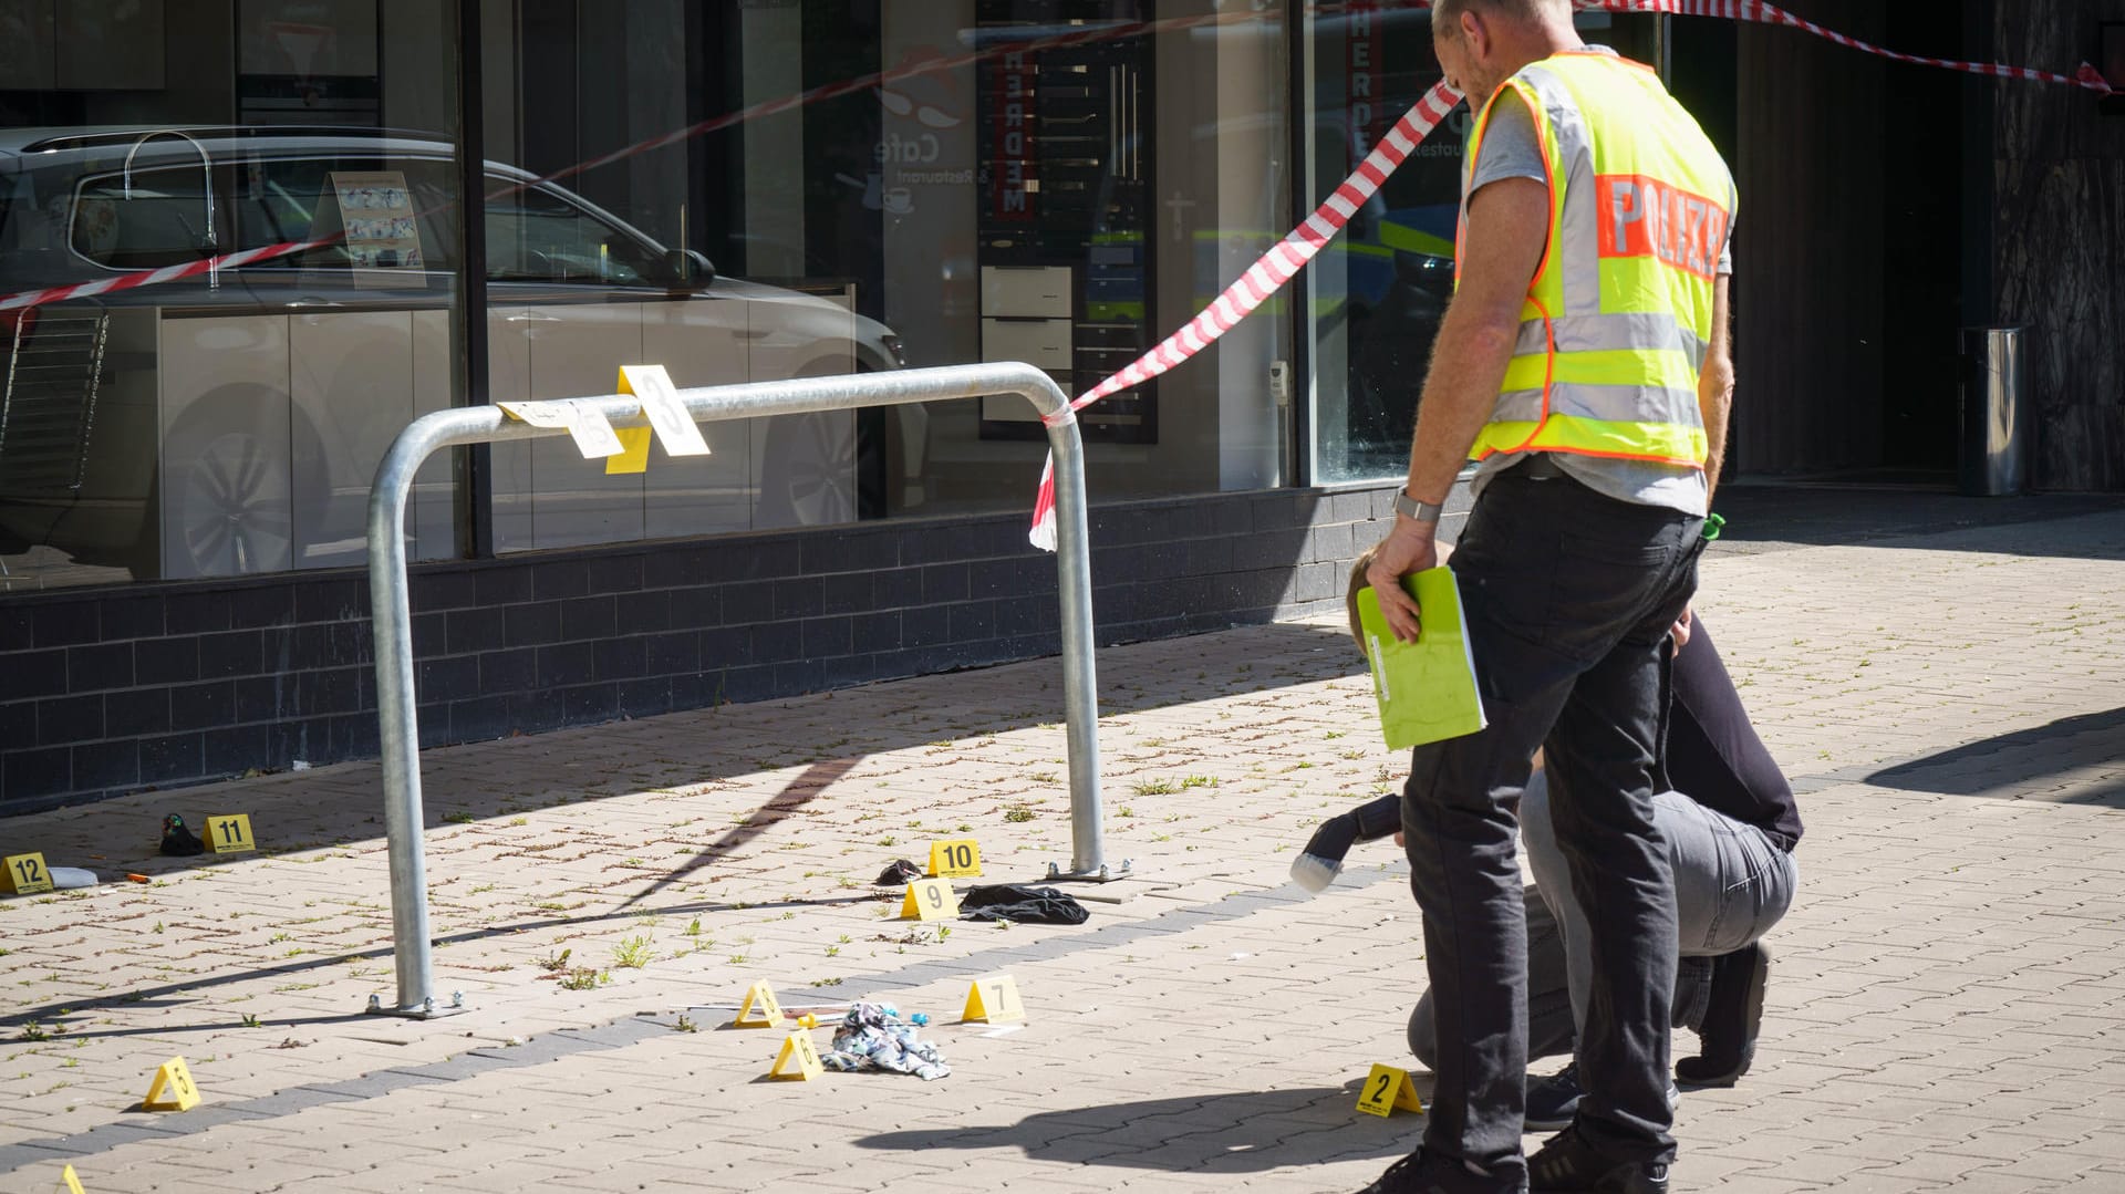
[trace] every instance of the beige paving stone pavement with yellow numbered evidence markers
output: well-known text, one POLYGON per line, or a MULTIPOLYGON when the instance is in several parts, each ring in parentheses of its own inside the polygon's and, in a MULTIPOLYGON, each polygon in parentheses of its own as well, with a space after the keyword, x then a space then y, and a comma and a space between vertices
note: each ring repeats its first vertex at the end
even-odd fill
MULTIPOLYGON (((1757 1064, 1685 1094, 1677 1190, 2125 1190, 2119 591, 2114 510, 1708 559, 1808 835, 1757 1064)), ((427 752, 470 1005, 431 1022, 361 1016, 393 999, 374 765, 0 820, 106 880, 0 899, 0 1190, 1364 1186, 1422 1130, 1352 1107, 1424 988, 1405 867, 1281 882, 1400 782, 1354 652, 1320 620, 1099 667, 1137 869, 1075 888, 1084 926, 941 933, 871 888, 939 837, 988 880, 1069 863, 1056 661, 427 752), (166 812, 264 850, 159 858, 166 812), (1022 1026, 958 1024, 990 973, 1022 1026), (767 1081, 780 1033, 725 1028, 754 979, 929 1011, 954 1073, 767 1081), (204 1103, 136 1111, 178 1054, 204 1103)))

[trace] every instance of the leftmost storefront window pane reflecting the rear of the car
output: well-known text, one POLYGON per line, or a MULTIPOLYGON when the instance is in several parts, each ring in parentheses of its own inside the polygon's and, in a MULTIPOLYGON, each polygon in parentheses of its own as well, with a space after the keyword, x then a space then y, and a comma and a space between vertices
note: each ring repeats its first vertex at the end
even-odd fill
MULTIPOLYGON (((0 83, 0 297, 64 291, 0 314, 0 589, 359 563, 385 446, 453 402, 453 144, 385 132, 450 127, 450 15, 74 8, 0 83)), ((453 552, 453 504, 438 461, 421 559, 453 552)))

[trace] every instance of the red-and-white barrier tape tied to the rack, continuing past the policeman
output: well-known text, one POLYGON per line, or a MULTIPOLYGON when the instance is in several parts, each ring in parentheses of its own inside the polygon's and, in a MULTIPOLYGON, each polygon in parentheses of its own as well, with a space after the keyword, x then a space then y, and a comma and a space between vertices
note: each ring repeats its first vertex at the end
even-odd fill
MULTIPOLYGON (((1430 8, 1426 0, 1411 0, 1411 8, 1430 8)), ((1762 0, 1575 0, 1579 11, 1606 11, 1606 13, 1636 13, 1636 15, 1674 15, 1674 17, 1723 17, 1728 21, 1749 21, 1762 25, 1789 25, 1796 30, 1810 32, 1819 38, 1828 38, 1836 45, 1857 49, 1876 57, 1889 57, 1896 62, 1912 62, 1919 66, 1938 66, 1944 70, 1961 70, 1968 74, 1985 74, 1993 79, 2021 79, 2027 83, 2063 83, 2070 87, 2085 87, 2089 91, 2100 91, 2104 96, 2116 93, 2108 81, 2089 64, 2080 64, 2074 74, 2057 74, 2051 70, 2029 70, 2023 66, 2002 66, 1995 62, 1953 62, 1944 57, 1923 57, 1915 53, 1898 53, 1883 49, 1859 38, 1844 36, 1836 30, 1817 25, 1815 21, 1796 17, 1774 4, 1764 4, 1762 0)), ((1216 302, 1203 308, 1201 314, 1190 319, 1179 331, 1167 336, 1156 348, 1130 361, 1122 372, 1099 382, 1096 387, 1084 391, 1082 397, 1069 404, 1067 412, 1056 412, 1048 416, 1048 423, 1062 423, 1075 419, 1080 410, 1092 406, 1094 402, 1143 385, 1173 365, 1194 357, 1216 342, 1220 336, 1247 319, 1254 308, 1262 306, 1275 291, 1284 289, 1298 270, 1311 261, 1334 234, 1343 232, 1352 215, 1379 191, 1402 161, 1415 153, 1417 142, 1422 142, 1439 123, 1454 110, 1460 102, 1460 91, 1447 87, 1445 83, 1432 87, 1409 113, 1396 121, 1394 130, 1381 138, 1379 147, 1358 164, 1358 170, 1343 181, 1341 187, 1328 195, 1328 202, 1313 208, 1290 236, 1277 242, 1269 253, 1262 253, 1247 272, 1239 276, 1237 283, 1226 287, 1216 302)), ((1054 453, 1048 455, 1048 463, 1041 467, 1041 489, 1039 497, 1033 501, 1033 527, 1026 531, 1026 540, 1041 550, 1056 550, 1056 461, 1054 453)))

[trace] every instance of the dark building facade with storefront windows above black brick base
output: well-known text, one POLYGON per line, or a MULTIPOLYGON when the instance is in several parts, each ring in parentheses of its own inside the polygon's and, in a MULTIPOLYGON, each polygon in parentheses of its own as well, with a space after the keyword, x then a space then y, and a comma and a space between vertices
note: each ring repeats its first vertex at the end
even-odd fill
MULTIPOLYGON (((2066 70, 2125 21, 1815 6, 2066 70)), ((2006 321, 2036 482, 2125 482, 2125 119, 1794 30, 1581 25, 1736 164, 1736 470, 1938 480, 1955 334, 2006 321)), ((40 295, 0 310, 0 812, 374 754, 363 508, 421 412, 633 363, 1016 359, 1080 393, 1439 81, 1394 0, 0 0, 0 304, 40 295)), ((1341 599, 1451 293, 1464 130, 1239 329, 1086 410, 1103 642, 1341 599)), ((633 474, 570 440, 431 461, 423 744, 1056 648, 1028 410, 708 440, 633 474)))

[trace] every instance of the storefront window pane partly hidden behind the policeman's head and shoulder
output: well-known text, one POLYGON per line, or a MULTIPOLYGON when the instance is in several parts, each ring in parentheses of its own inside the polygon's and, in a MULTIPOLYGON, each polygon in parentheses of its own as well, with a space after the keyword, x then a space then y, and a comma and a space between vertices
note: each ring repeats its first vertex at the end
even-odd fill
MULTIPOLYGON (((1587 42, 1649 64, 1660 55, 1660 21, 1577 17, 1587 42)), ((1318 202, 1443 74, 1430 13, 1371 0, 1322 4, 1307 17, 1305 53, 1313 66, 1309 193, 1318 202)), ((1468 125, 1468 104, 1454 108, 1300 283, 1313 317, 1311 474, 1322 484, 1409 470, 1417 397, 1454 297, 1468 125)))

